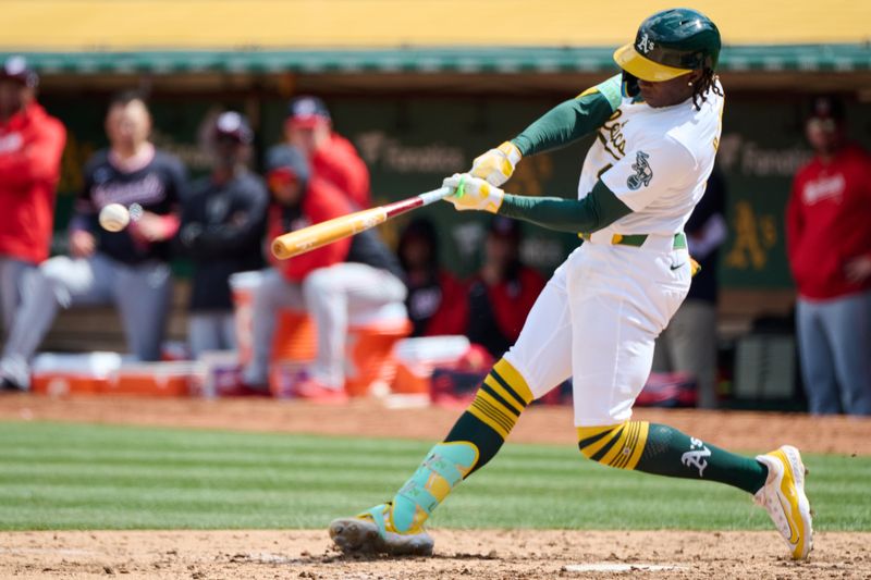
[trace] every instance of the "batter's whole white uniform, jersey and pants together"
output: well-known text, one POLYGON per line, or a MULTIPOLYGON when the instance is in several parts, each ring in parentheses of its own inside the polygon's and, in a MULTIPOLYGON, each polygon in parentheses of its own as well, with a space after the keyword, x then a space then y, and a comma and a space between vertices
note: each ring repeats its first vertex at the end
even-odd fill
POLYGON ((536 398, 573 378, 575 424, 631 417, 650 374, 657 336, 690 284, 689 254, 674 234, 704 193, 720 138, 723 98, 651 108, 621 95, 619 77, 597 87, 611 119, 587 153, 582 198, 601 178, 633 213, 592 234, 554 272, 505 359, 536 398), (647 234, 641 247, 613 234, 647 234), (653 243, 651 243, 653 242, 653 243))

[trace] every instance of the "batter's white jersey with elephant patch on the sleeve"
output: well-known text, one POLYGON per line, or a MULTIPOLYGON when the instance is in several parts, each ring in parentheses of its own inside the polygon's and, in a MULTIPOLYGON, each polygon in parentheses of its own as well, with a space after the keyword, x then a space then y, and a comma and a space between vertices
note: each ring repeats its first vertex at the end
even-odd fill
POLYGON ((633 213, 593 234, 592 242, 610 240, 612 234, 682 232, 714 165, 723 97, 708 91, 700 110, 691 99, 652 108, 624 97, 619 75, 596 88, 616 110, 587 153, 578 197, 601 178, 633 213))

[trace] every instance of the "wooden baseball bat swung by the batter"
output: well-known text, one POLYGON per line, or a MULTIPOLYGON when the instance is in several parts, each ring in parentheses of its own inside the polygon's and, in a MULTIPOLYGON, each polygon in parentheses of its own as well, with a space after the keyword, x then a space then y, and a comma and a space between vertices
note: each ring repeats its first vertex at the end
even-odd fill
POLYGON ((299 256, 344 237, 359 234, 413 209, 429 206, 452 193, 453 189, 450 187, 440 187, 387 206, 356 211, 295 232, 282 234, 272 240, 272 255, 280 260, 299 256))

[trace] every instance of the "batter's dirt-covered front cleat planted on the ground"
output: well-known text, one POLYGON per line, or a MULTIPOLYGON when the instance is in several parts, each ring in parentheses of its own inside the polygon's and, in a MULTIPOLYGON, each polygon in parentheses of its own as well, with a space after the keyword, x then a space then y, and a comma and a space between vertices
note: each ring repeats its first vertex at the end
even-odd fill
POLYGON ((392 507, 381 504, 353 518, 333 520, 330 538, 345 554, 431 555, 434 542, 422 527, 407 532, 393 529, 392 507))

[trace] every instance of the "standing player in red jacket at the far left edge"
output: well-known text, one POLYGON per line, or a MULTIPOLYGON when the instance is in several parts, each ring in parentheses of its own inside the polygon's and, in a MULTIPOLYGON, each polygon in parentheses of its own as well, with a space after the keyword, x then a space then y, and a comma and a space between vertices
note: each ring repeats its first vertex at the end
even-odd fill
POLYGON ((36 102, 37 84, 22 57, 0 69, 0 306, 7 332, 24 273, 48 258, 66 140, 61 122, 36 102))

